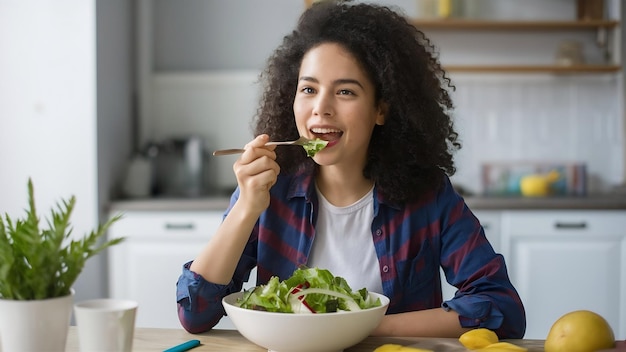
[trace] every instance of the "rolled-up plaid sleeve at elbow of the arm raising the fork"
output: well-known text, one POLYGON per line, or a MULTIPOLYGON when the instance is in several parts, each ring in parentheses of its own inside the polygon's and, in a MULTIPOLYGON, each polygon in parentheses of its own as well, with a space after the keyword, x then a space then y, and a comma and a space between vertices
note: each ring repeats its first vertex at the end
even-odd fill
POLYGON ((181 325, 188 332, 197 334, 212 329, 220 321, 226 314, 222 298, 241 290, 241 283, 211 283, 189 270, 190 266, 191 262, 183 265, 183 272, 176 283, 176 301, 181 325))

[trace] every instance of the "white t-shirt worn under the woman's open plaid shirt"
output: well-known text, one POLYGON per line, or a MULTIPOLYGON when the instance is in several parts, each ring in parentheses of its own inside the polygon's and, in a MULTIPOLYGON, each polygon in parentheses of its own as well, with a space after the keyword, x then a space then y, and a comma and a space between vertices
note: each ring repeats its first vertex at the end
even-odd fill
POLYGON ((356 291, 383 293, 378 257, 372 239, 374 188, 352 205, 336 207, 317 189, 319 214, 309 267, 328 269, 356 291))

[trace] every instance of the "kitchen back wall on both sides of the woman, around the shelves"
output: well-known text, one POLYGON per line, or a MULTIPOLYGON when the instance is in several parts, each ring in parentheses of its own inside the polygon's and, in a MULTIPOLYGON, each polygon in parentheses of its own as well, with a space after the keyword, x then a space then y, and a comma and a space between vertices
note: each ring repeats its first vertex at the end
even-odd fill
MULTIPOLYGON (((430 15, 427 1, 385 3, 400 6, 412 17, 430 15)), ((607 8, 610 16, 618 16, 618 2, 607 3, 607 8)), ((576 17, 575 2, 568 0, 552 0, 547 6, 537 1, 471 1, 463 10, 466 17, 483 19, 576 17)), ((302 4, 274 1, 250 11, 242 1, 186 1, 185 6, 155 1, 150 11, 143 34, 150 40, 140 42, 140 62, 146 70, 143 143, 195 134, 204 138, 209 150, 245 144, 256 107, 257 74, 295 24, 302 4)), ((441 50, 444 65, 550 64, 556 61, 559 45, 572 40, 582 46, 587 63, 607 63, 593 30, 425 32, 441 50)), ((619 38, 610 36, 609 47, 619 49, 619 38)), ((619 52, 611 54, 609 61, 619 60, 619 52)), ((611 191, 623 183, 623 75, 450 76, 464 145, 454 181, 469 191, 483 192, 482 165, 501 161, 586 164, 590 193, 611 191)), ((235 184, 233 160, 208 161, 210 181, 218 190, 235 184)))

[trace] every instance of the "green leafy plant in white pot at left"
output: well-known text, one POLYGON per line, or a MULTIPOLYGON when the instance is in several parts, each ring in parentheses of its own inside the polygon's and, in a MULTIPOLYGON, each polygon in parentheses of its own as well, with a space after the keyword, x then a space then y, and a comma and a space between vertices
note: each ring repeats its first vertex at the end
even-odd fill
POLYGON ((32 180, 23 218, 0 217, 0 343, 2 351, 64 351, 72 314, 72 285, 85 262, 123 238, 106 240, 109 219, 73 238, 76 198, 62 200, 40 226, 32 180))

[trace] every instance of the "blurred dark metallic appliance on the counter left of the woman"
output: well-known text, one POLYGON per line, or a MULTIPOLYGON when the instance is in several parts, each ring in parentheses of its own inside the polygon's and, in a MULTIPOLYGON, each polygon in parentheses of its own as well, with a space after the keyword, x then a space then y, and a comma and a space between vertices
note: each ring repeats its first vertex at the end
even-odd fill
POLYGON ((198 136, 156 143, 154 193, 167 197, 198 197, 208 191, 208 153, 198 136))

